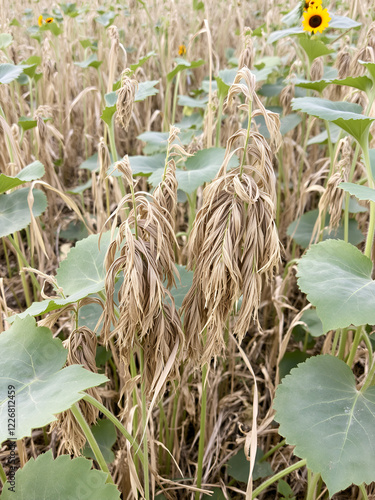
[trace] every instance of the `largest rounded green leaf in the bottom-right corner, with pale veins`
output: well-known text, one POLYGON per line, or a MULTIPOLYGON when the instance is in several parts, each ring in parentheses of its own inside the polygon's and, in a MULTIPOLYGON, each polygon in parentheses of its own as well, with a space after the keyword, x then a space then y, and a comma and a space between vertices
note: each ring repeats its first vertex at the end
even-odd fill
POLYGON ((358 391, 344 361, 324 355, 298 365, 277 388, 274 408, 280 434, 330 496, 375 481, 375 387, 358 391))

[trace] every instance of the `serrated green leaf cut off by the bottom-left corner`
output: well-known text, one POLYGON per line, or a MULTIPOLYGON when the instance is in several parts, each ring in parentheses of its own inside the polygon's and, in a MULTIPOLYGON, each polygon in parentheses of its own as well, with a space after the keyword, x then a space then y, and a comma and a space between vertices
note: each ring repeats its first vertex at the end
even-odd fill
POLYGON ((54 460, 49 450, 17 470, 15 492, 5 483, 1 500, 119 500, 120 492, 106 480, 107 474, 92 469, 91 460, 69 455, 54 460))

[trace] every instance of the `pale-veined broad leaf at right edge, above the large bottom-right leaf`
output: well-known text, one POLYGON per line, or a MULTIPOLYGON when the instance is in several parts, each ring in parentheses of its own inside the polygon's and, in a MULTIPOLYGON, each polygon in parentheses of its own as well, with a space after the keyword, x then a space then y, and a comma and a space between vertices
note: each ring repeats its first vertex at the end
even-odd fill
POLYGON ((340 240, 312 245, 298 264, 298 286, 316 307, 327 332, 375 323, 372 262, 340 240))

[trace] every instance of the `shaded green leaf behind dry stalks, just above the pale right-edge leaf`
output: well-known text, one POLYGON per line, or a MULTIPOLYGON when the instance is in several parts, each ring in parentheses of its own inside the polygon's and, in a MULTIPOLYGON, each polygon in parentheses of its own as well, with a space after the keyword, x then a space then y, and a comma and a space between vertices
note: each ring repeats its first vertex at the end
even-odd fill
MULTIPOLYGON (((306 212, 301 217, 293 221, 288 229, 287 235, 294 239, 302 248, 307 248, 310 245, 314 226, 317 221, 319 210, 311 210, 306 212)), ((323 241, 328 239, 344 239, 344 226, 341 222, 337 230, 328 231, 329 215, 326 215, 325 229, 323 231, 323 241)), ((355 219, 349 219, 349 242, 353 245, 358 245, 363 241, 363 234, 358 229, 358 223, 355 219)))

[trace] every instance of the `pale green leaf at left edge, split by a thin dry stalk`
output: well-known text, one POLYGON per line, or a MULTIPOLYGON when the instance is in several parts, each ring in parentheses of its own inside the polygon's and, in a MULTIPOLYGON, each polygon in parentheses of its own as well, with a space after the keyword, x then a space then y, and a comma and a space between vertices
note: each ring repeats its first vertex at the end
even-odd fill
MULTIPOLYGON (((0 195, 0 237, 21 231, 30 224, 31 214, 27 203, 29 191, 29 188, 22 188, 0 195)), ((33 214, 38 217, 47 208, 47 198, 40 189, 34 189, 33 196, 33 214)))

